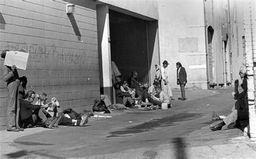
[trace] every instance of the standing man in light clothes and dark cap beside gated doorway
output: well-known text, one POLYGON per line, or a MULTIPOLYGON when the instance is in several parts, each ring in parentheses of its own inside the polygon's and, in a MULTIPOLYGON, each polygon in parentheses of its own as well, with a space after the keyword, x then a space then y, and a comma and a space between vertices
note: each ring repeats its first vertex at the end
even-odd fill
POLYGON ((161 67, 161 86, 162 89, 170 96, 171 100, 174 100, 172 98, 172 88, 171 88, 171 83, 168 82, 168 74, 167 74, 167 66, 168 62, 165 60, 163 62, 163 66, 161 67))

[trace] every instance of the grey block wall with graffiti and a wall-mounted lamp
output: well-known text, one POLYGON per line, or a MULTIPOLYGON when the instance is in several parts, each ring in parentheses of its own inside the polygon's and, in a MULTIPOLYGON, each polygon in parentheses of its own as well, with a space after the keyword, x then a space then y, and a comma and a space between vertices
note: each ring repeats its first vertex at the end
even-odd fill
MULTIPOLYGON (((74 1, 75 2, 75 1, 74 1)), ((27 90, 56 97, 63 109, 91 109, 100 98, 95 1, 66 14, 65 1, 0 1, 0 51, 30 50, 27 90), (71 22, 72 21, 72 22, 71 22), (75 21, 75 23, 74 23, 75 21), (80 38, 77 36, 80 33, 80 38)), ((6 125, 8 92, 0 59, 0 129, 6 125)))

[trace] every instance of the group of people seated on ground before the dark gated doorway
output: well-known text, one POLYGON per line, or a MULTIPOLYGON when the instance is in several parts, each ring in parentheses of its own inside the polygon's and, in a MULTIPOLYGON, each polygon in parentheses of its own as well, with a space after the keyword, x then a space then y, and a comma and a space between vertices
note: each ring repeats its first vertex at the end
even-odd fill
POLYGON ((116 84, 116 102, 124 104, 127 107, 136 108, 136 104, 151 103, 161 107, 163 103, 171 105, 171 98, 167 93, 161 90, 160 84, 154 81, 153 85, 148 83, 140 84, 137 81, 138 73, 133 72, 129 83, 119 82, 116 84))

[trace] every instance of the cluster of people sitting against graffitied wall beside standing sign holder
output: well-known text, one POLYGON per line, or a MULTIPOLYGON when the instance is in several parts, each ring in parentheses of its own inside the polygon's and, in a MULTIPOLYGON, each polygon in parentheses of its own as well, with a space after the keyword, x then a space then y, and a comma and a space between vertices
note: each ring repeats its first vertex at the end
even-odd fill
MULTIPOLYGON (((25 76, 19 78, 20 85, 18 88, 18 99, 20 103, 19 110, 19 125, 24 128, 34 126, 42 127, 57 127, 64 126, 85 126, 89 121, 90 115, 83 115, 80 119, 72 119, 62 114, 56 117, 56 114, 50 115, 49 110, 56 108, 56 100, 47 101, 46 93, 38 95, 35 91, 28 91, 25 93, 27 79, 25 76), (33 104, 36 101, 35 104, 33 104)), ((56 99, 56 98, 55 98, 56 99)))

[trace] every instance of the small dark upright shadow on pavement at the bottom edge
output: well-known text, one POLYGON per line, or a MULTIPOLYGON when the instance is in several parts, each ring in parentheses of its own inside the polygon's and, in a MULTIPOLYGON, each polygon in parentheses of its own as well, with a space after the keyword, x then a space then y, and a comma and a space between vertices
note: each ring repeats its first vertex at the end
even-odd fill
POLYGON ((174 147, 177 149, 175 153, 176 158, 187 158, 185 139, 174 138, 172 143, 174 143, 174 147))

